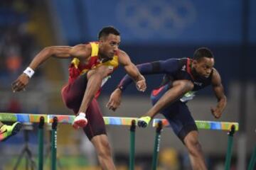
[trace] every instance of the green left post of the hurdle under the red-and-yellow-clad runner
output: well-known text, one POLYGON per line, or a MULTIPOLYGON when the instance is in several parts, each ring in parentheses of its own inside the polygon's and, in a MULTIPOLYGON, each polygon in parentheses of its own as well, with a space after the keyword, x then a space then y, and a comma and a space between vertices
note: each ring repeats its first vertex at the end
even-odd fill
POLYGON ((58 118, 53 118, 52 124, 52 132, 51 132, 51 169, 56 170, 56 159, 57 159, 57 125, 58 125, 58 118))

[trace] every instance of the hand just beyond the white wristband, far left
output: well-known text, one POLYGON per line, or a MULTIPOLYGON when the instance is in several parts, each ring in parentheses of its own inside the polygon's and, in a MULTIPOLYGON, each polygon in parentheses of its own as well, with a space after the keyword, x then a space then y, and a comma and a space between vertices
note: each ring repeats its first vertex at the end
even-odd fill
POLYGON ((21 74, 16 81, 11 84, 11 89, 13 92, 24 91, 26 85, 28 84, 29 77, 26 74, 21 74))

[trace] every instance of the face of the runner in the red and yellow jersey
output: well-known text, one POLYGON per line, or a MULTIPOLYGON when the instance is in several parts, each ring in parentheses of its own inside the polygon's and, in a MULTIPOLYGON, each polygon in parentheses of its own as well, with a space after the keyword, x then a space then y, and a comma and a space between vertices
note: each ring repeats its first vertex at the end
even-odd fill
POLYGON ((110 34, 100 40, 100 54, 102 57, 112 60, 114 53, 117 52, 120 44, 120 36, 110 34))

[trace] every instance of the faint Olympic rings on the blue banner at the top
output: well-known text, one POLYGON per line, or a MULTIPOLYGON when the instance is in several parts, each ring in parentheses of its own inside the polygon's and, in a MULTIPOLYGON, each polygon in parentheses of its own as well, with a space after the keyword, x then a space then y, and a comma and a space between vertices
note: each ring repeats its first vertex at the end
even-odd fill
POLYGON ((122 0, 117 20, 139 38, 174 38, 196 19, 189 0, 122 0))

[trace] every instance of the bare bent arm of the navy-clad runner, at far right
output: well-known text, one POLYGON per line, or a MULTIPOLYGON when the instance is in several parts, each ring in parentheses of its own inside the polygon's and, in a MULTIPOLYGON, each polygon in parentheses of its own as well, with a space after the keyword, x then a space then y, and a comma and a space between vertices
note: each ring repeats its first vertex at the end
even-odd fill
POLYGON ((225 106, 227 105, 227 98, 224 94, 220 74, 216 69, 213 70, 212 86, 215 96, 218 99, 218 104, 215 108, 211 107, 210 111, 213 113, 215 118, 220 118, 225 109, 225 106))

